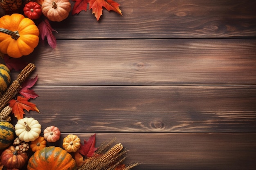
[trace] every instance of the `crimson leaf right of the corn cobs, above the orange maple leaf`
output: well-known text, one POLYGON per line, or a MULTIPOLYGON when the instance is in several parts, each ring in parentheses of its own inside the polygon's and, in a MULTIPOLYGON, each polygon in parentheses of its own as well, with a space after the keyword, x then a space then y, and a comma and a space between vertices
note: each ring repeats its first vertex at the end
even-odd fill
POLYGON ((30 90, 29 88, 33 87, 36 84, 38 77, 36 75, 36 77, 34 79, 27 79, 25 80, 25 82, 22 83, 21 85, 21 89, 19 91, 19 93, 26 97, 27 99, 35 99, 36 97, 38 97, 38 95, 34 92, 34 90, 30 90))

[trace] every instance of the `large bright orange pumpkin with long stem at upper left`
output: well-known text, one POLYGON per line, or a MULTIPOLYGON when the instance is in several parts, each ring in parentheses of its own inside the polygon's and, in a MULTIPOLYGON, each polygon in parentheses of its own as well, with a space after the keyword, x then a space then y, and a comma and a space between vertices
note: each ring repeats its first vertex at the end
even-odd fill
POLYGON ((39 42, 39 29, 24 15, 13 13, 0 18, 0 51, 10 57, 29 55, 39 42))

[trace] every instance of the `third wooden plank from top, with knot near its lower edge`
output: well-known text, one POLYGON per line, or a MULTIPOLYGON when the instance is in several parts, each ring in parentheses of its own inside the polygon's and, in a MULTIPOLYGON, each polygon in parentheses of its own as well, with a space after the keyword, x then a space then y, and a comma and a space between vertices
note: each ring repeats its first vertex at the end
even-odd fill
POLYGON ((255 132, 256 86, 36 86, 62 132, 255 132))

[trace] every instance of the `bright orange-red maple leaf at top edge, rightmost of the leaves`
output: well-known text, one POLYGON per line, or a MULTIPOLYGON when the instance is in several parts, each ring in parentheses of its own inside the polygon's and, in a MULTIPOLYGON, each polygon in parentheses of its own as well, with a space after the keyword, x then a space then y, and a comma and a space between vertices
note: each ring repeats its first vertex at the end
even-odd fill
POLYGON ((113 0, 90 0, 89 9, 92 9, 92 13, 96 17, 97 21, 102 15, 102 7, 105 7, 108 11, 115 11, 122 15, 121 10, 119 9, 120 4, 113 0))

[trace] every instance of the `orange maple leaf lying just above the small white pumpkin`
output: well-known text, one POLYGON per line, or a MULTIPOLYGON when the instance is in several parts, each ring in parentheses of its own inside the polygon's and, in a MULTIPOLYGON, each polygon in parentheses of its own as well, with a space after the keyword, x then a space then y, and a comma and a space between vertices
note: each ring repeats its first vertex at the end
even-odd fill
POLYGON ((9 104, 12 108, 12 113, 18 120, 23 118, 23 115, 25 114, 24 109, 28 112, 29 110, 32 110, 40 113, 36 105, 28 102, 28 99, 25 97, 18 96, 16 100, 11 99, 9 104))

